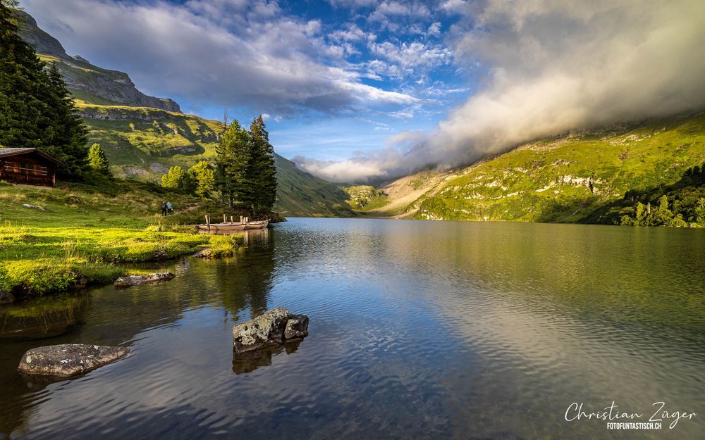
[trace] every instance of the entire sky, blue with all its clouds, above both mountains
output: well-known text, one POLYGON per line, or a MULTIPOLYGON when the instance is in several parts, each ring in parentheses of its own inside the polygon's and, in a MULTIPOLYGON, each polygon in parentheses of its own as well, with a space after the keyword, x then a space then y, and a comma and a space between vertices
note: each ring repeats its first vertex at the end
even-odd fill
POLYGON ((335 181, 705 106, 701 0, 23 0, 71 55, 187 113, 266 115, 335 181))

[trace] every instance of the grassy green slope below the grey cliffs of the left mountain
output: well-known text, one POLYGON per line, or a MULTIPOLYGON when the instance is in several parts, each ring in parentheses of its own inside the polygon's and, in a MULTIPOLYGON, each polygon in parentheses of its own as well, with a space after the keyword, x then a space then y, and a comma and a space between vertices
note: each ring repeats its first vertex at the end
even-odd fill
MULTIPOLYGON (((76 100, 90 128, 90 142, 103 146, 118 177, 156 182, 173 165, 190 167, 215 156, 221 122, 157 108, 100 106, 76 100)), ((345 194, 276 155, 278 201, 274 209, 289 216, 348 216, 345 194)))

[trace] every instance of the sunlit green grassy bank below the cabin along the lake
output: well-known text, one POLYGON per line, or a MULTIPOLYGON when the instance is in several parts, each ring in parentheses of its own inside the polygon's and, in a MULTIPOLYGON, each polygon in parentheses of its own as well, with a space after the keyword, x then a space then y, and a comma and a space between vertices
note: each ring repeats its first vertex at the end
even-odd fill
POLYGON ((228 256, 241 242, 238 236, 197 234, 196 219, 206 210, 217 212, 209 203, 139 182, 116 180, 110 187, 106 193, 78 184, 0 184, 0 289, 41 295, 112 282, 126 272, 121 263, 176 258, 204 247, 228 256), (163 218, 159 206, 167 199, 176 214, 163 218))

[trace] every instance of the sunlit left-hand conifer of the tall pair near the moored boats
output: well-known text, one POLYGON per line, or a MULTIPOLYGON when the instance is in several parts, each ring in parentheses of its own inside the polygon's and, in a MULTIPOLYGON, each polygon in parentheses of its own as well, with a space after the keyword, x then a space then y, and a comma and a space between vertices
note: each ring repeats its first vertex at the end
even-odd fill
POLYGON ((250 134, 243 130, 238 120, 233 120, 216 146, 216 189, 221 192, 228 206, 235 201, 247 203, 247 163, 250 161, 250 134))

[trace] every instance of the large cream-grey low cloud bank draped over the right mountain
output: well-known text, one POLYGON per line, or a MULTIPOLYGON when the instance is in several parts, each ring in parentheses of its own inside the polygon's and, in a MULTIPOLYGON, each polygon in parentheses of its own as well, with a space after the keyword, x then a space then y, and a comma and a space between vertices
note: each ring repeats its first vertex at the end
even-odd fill
MULTIPOLYGON (((466 165, 567 130, 705 106, 700 0, 449 0, 441 6, 464 16, 451 31, 455 63, 486 70, 484 87, 410 148, 336 163, 300 158, 303 168, 337 181, 393 177, 466 165)), ((410 138, 418 136, 397 135, 410 138)))

